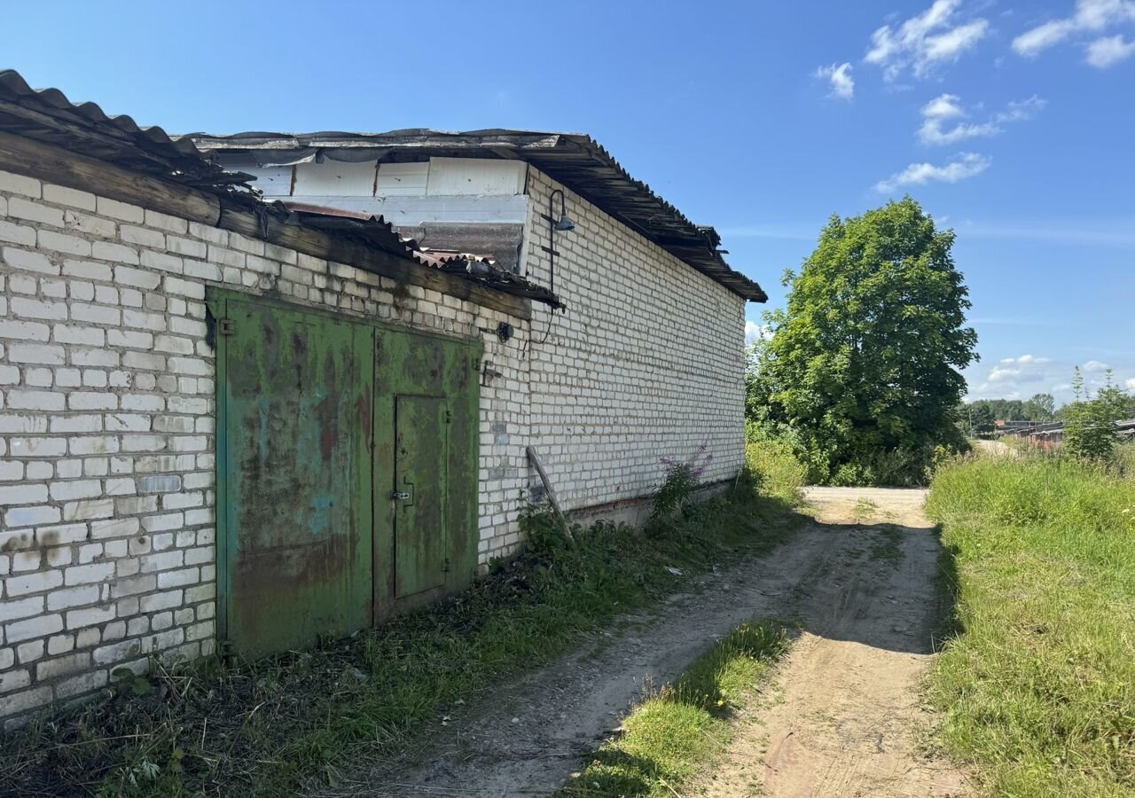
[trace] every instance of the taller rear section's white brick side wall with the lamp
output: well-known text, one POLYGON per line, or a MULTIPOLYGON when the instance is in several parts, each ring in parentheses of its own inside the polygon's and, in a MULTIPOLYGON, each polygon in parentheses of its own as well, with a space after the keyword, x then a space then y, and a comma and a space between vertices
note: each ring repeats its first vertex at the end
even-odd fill
POLYGON ((530 425, 565 509, 637 498, 661 457, 705 445, 703 480, 745 461, 745 301, 543 173, 529 170, 526 268, 548 282, 548 195, 565 192, 575 229, 555 234, 548 330, 532 317, 530 425), (547 342, 540 342, 547 333, 547 342))

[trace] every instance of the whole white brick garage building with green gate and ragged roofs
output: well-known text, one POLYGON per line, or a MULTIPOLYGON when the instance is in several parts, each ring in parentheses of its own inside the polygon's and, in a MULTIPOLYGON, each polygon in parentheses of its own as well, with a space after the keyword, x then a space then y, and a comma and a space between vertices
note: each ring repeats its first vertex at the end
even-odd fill
POLYGON ((731 479, 717 242, 582 136, 194 145, 0 73, 0 719, 460 589, 529 447, 575 513, 731 479))

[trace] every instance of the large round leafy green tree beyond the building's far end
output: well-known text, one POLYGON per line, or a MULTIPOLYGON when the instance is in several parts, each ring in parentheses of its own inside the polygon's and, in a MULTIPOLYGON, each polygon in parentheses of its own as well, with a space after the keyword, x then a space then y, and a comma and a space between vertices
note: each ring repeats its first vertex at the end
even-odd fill
POLYGON ((750 381, 757 421, 790 432, 809 477, 835 484, 920 479, 935 445, 962 447, 959 372, 976 359, 970 306, 939 232, 909 196, 832 216, 750 381))

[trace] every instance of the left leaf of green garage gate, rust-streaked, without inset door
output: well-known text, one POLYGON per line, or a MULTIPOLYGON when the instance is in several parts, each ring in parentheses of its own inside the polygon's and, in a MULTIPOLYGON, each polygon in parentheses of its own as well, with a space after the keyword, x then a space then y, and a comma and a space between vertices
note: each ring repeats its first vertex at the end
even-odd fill
POLYGON ((368 627, 375 330, 236 299, 221 314, 224 635, 254 656, 368 627))

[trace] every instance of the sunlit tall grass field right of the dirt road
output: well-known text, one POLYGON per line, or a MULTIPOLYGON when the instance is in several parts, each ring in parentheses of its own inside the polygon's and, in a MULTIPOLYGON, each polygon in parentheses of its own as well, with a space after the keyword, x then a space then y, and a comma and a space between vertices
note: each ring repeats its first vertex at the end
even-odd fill
POLYGON ((958 599, 938 742, 989 795, 1135 793, 1135 479, 970 459, 939 471, 927 511, 958 599))

